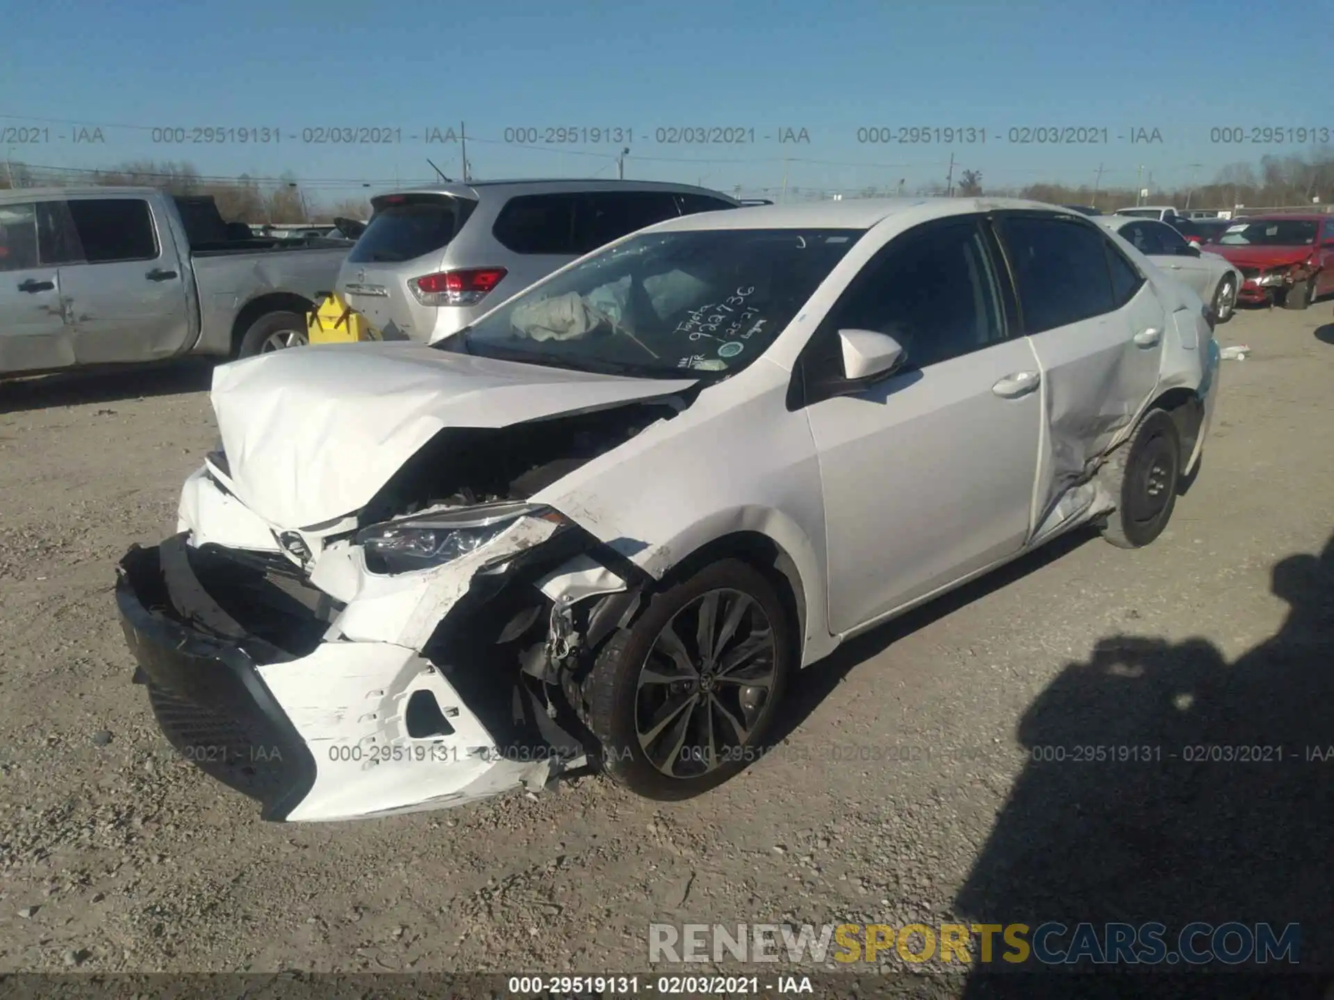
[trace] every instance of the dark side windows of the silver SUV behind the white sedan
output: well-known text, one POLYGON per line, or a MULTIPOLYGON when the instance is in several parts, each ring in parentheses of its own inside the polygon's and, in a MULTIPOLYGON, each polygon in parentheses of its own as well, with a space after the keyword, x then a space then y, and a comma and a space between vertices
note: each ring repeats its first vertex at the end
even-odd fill
MULTIPOLYGON (((671 191, 519 195, 500 209, 491 232, 515 253, 583 256, 646 225, 682 215, 678 197, 671 191)), ((730 208, 726 203, 720 207, 730 208)))

